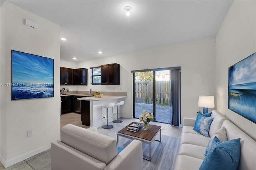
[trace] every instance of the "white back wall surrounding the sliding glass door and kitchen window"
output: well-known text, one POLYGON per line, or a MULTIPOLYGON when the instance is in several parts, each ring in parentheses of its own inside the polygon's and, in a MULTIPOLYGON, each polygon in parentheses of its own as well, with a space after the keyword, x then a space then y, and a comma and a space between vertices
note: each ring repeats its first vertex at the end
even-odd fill
MULTIPOLYGON (((78 90, 122 91, 128 96, 122 109, 122 117, 132 118, 132 70, 164 67, 181 67, 181 117, 195 117, 199 95, 215 95, 215 43, 214 37, 191 42, 147 49, 112 57, 76 63, 76 68, 108 63, 120 64, 120 85, 79 86, 78 90)), ((62 63, 62 62, 61 62, 62 63)), ((61 64, 64 67, 64 65, 61 64)), ((71 86, 69 86, 70 88, 71 86)), ((65 87, 68 88, 68 87, 65 87)))

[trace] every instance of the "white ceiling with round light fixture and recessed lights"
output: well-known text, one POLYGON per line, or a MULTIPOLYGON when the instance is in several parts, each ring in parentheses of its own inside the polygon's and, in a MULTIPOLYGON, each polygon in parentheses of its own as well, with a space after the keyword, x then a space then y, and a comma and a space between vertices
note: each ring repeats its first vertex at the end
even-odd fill
POLYGON ((216 36, 233 1, 8 2, 60 25, 60 38, 67 39, 60 40, 60 58, 79 62, 216 36), (132 8, 130 16, 126 16, 125 6, 132 8))

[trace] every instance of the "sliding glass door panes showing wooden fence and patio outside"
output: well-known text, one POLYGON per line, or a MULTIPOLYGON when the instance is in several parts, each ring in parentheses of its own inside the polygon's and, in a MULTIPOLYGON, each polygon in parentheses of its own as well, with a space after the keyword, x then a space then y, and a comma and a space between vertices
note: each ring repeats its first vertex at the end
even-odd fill
POLYGON ((143 110, 153 113, 154 121, 171 123, 170 69, 133 71, 134 117, 143 110))

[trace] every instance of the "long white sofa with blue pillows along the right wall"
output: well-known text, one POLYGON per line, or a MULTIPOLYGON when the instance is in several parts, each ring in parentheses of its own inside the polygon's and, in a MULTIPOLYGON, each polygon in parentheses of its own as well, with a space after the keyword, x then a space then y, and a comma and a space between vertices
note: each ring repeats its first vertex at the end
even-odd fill
POLYGON ((226 117, 212 111, 213 121, 209 137, 193 130, 196 119, 184 118, 180 148, 176 157, 175 170, 198 170, 205 158, 204 152, 211 136, 222 127, 226 128, 227 140, 240 139, 240 160, 238 170, 256 170, 256 141, 231 123, 226 117))

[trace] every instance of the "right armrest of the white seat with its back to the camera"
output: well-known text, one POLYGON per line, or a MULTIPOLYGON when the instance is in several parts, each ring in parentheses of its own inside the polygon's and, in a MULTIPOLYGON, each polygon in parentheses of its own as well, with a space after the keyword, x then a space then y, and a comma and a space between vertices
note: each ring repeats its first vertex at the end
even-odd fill
POLYGON ((142 142, 133 140, 104 168, 104 170, 142 170, 142 154, 142 142))

